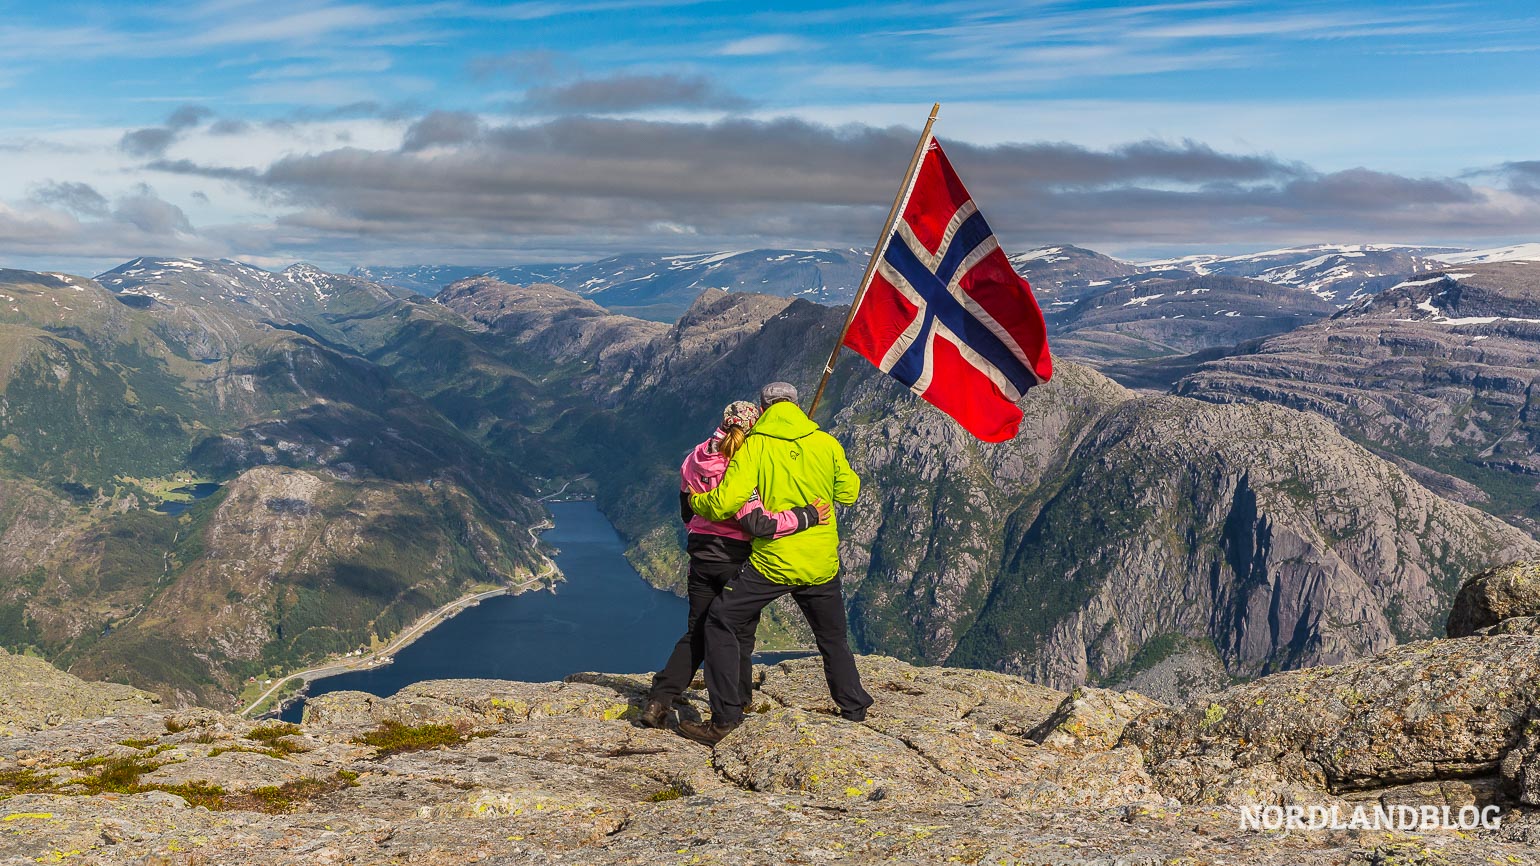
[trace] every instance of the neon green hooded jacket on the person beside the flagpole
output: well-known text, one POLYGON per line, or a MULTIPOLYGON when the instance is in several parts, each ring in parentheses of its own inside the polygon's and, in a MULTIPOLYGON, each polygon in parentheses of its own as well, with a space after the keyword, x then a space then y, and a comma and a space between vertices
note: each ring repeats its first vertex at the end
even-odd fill
MULTIPOLYGON (((845 448, 792 402, 759 416, 744 447, 727 464, 715 490, 690 496, 695 513, 728 519, 759 490, 765 512, 812 505, 813 499, 849 505, 861 493, 845 448)), ((784 538, 756 538, 748 562, 778 584, 813 586, 839 573, 839 524, 830 521, 784 538)))

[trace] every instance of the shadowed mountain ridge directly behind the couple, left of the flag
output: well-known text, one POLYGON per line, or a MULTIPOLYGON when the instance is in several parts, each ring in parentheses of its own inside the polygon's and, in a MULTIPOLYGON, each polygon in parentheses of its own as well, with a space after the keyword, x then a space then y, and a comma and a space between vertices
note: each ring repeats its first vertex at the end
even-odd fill
POLYGON ((541 453, 553 473, 591 476, 601 509, 633 544, 633 564, 670 589, 684 581, 670 493, 679 461, 725 404, 773 379, 812 379, 842 322, 841 310, 725 291, 704 293, 671 327, 605 313, 556 287, 490 279, 456 284, 439 300, 559 365, 542 385, 551 404, 539 442, 496 447, 541 453))

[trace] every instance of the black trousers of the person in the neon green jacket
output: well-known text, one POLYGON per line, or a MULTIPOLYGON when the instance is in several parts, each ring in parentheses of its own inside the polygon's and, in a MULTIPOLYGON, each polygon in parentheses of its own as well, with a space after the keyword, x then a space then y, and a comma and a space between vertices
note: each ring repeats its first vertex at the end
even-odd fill
POLYGON ((744 562, 705 615, 705 686, 711 692, 711 720, 718 724, 741 721, 748 703, 748 689, 732 675, 744 623, 758 621, 764 606, 785 593, 792 593, 792 601, 802 609, 813 629, 818 652, 824 656, 829 695, 839 704, 839 712, 859 715, 872 706, 872 695, 861 687, 861 673, 845 638, 845 598, 839 578, 818 586, 787 586, 765 579, 744 562))

